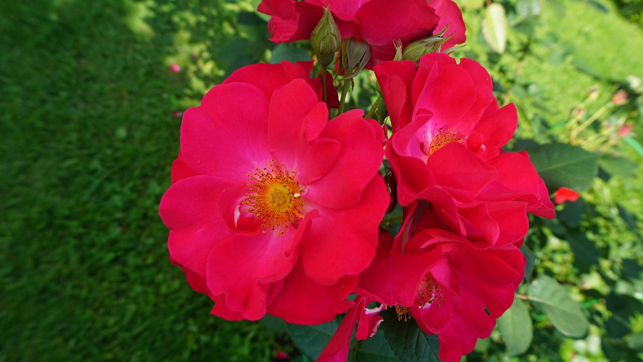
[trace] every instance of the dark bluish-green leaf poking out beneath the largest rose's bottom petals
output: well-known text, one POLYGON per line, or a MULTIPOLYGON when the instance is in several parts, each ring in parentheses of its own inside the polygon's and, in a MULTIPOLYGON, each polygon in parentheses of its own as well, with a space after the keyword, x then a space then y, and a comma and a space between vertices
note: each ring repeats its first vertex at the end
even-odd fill
POLYGON ((319 357, 323 348, 331 340, 332 335, 340 327, 340 323, 334 319, 327 323, 318 325, 298 325, 286 323, 288 334, 294 344, 313 359, 319 357))

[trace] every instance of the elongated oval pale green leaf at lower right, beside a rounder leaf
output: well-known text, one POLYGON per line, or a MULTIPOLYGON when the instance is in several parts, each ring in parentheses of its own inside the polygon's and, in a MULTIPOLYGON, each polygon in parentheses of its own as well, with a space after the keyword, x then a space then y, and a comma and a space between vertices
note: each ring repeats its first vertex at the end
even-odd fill
POLYGON ((565 336, 581 338, 587 334, 589 323, 581 305, 553 278, 541 274, 529 285, 527 295, 565 336))

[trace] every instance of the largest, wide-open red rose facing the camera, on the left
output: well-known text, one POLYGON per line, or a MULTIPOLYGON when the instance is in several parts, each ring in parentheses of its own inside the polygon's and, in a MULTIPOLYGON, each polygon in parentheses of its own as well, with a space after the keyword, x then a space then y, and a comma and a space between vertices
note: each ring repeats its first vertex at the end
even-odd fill
POLYGON ((361 111, 329 121, 309 71, 241 68, 183 115, 159 213, 170 258, 223 318, 329 321, 376 252, 383 131, 361 111))

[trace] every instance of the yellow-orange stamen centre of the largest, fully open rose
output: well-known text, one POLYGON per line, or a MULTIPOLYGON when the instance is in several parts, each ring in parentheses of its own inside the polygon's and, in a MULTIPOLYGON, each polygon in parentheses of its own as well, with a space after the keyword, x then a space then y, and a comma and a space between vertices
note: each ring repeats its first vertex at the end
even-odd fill
POLYGON ((250 190, 242 204, 248 205, 250 213, 257 214, 261 220, 262 233, 267 229, 277 230, 277 236, 283 235, 285 229, 297 218, 303 217, 303 187, 294 180, 296 171, 289 172, 284 164, 277 164, 273 159, 269 167, 255 168, 255 174, 248 176, 250 190))

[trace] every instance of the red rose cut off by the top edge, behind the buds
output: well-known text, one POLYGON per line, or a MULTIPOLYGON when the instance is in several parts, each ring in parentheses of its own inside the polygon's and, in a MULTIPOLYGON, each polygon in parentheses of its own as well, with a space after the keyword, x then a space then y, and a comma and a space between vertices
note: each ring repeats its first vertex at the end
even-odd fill
POLYGON ((465 41, 462 13, 451 0, 263 0, 258 10, 272 15, 270 40, 288 43, 309 39, 329 5, 343 39, 355 37, 370 44, 372 64, 393 60, 395 39, 406 46, 446 26, 444 36, 453 35, 443 49, 465 41))

